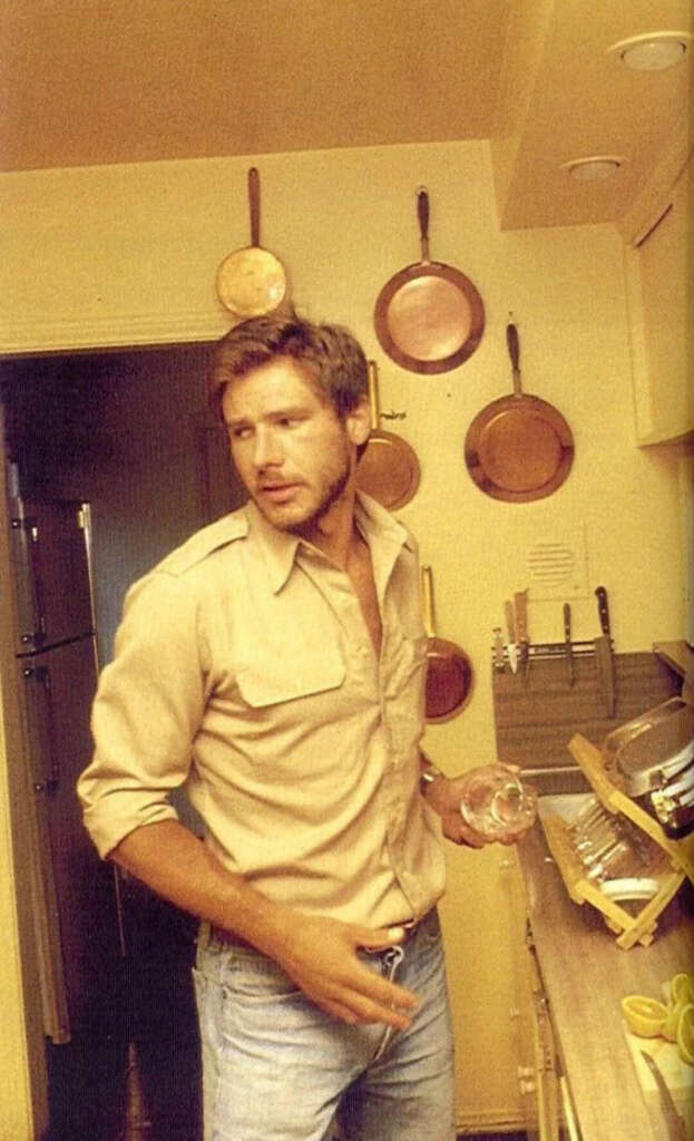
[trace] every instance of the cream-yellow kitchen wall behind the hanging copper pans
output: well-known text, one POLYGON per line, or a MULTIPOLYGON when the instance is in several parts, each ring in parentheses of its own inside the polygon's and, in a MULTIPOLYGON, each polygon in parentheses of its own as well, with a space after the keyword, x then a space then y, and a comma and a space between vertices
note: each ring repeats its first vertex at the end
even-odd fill
MULTIPOLYGON (((166 343, 223 333, 227 318, 216 301, 215 272, 249 241, 251 162, 2 176, 0 348, 166 343)), ((635 444, 621 238, 608 225, 501 233, 483 143, 271 155, 257 164, 261 242, 285 262, 297 307, 341 321, 361 338, 379 362, 381 411, 405 414, 385 427, 402 431, 421 461, 420 491, 402 517, 434 568, 438 632, 463 645, 477 671, 468 709, 427 734, 428 752, 455 772, 493 756, 491 630, 503 599, 527 584, 525 551, 536 539, 584 535, 587 590, 572 599, 575 638, 598 632, 598 582, 610 591, 618 650, 681 637, 677 456, 635 444), (428 378, 384 356, 371 316, 387 278, 419 259, 420 184, 431 199, 431 254, 471 277, 487 318, 474 356, 428 378), (486 497, 462 460, 473 416, 510 391, 509 310, 519 327, 526 390, 554 402, 575 435, 568 482, 536 504, 486 497)), ((532 637, 560 638, 560 600, 532 602, 532 637)), ((518 1111, 506 857, 495 849, 449 857, 444 920, 461 1124, 493 1126, 518 1111)))

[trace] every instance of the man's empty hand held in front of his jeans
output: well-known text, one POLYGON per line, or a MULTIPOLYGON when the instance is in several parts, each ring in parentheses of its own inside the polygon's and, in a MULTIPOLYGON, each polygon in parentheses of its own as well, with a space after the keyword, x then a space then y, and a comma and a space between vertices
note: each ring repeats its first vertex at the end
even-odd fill
POLYGON ((370 928, 296 915, 283 946, 272 957, 321 1010, 344 1022, 385 1022, 398 1030, 411 1025, 417 995, 370 971, 358 947, 384 950, 402 941, 403 928, 370 928))

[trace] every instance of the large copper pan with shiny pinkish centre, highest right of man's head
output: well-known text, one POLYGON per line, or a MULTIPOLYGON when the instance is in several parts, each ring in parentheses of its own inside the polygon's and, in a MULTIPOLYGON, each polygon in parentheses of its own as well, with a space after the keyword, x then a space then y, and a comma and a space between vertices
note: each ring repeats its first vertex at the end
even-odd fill
POLYGON ((457 369, 484 332, 484 306, 459 269, 429 259, 429 195, 417 193, 421 261, 395 274, 380 291, 373 313, 385 353, 410 372, 457 369))

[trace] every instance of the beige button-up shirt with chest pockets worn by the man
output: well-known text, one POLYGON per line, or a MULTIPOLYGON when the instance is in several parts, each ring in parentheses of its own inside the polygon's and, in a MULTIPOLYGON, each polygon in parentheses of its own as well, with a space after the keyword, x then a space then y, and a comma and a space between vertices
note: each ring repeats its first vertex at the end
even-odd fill
POLYGON ((382 621, 377 657, 346 573, 252 503, 197 532, 126 599, 78 791, 103 856, 176 817, 269 898, 346 922, 423 915, 442 895, 441 823, 419 792, 417 550, 361 496, 382 621))

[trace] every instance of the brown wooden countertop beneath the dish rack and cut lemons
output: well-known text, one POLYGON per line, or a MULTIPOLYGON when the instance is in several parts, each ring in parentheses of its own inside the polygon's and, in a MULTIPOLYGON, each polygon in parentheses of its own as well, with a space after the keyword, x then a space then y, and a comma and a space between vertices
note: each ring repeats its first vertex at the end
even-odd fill
POLYGON ((662 997, 662 984, 694 964, 694 889, 685 881, 649 947, 621 950, 602 915, 574 904, 541 825, 518 845, 528 917, 562 1065, 582 1141, 668 1141, 644 1101, 622 1031, 620 1000, 662 997))

